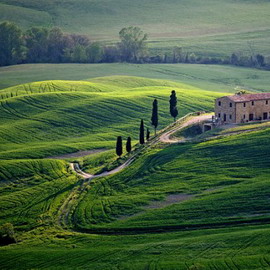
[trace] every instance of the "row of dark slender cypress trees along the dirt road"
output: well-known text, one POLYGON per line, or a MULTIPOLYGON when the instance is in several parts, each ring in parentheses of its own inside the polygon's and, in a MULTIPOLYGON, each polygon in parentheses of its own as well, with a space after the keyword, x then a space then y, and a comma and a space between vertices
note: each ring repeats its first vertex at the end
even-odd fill
MULTIPOLYGON (((171 92, 169 103, 170 103, 170 114, 174 118, 174 121, 176 121, 176 117, 178 116, 178 109, 177 109, 177 97, 176 97, 175 90, 173 90, 171 92)), ((158 127, 158 101, 157 101, 157 99, 154 99, 154 101, 153 101, 151 124, 154 127, 155 135, 156 135, 157 127, 158 127)), ((140 135, 139 135, 140 144, 145 143, 144 131, 145 131, 145 129, 144 129, 144 121, 143 121, 143 119, 141 119, 140 135)), ((147 128, 147 130, 146 130, 146 140, 148 141, 149 139, 150 139, 150 131, 149 131, 149 128, 147 128)), ((127 141, 126 141, 126 151, 127 151, 127 153, 130 153, 131 149, 132 149, 131 137, 128 137, 127 141)), ((116 154, 119 157, 123 154, 122 136, 117 137, 116 154)))

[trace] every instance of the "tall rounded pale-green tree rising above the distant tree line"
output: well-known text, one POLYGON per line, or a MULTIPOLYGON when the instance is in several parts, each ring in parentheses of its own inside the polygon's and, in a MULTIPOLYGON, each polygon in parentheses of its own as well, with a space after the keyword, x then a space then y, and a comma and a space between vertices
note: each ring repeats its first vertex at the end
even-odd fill
POLYGON ((120 43, 118 44, 122 60, 137 62, 146 53, 147 34, 139 27, 130 26, 119 32, 120 43))

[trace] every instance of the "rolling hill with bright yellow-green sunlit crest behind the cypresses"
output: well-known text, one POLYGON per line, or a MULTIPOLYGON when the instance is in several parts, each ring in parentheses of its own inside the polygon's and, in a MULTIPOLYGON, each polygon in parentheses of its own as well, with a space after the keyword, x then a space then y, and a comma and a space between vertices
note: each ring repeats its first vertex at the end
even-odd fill
POLYGON ((172 121, 169 95, 179 112, 212 110, 221 94, 181 83, 137 77, 93 82, 47 81, 2 90, 0 158, 40 158, 92 148, 112 148, 116 136, 137 142, 140 119, 150 127, 152 102, 159 100, 160 128, 172 121))

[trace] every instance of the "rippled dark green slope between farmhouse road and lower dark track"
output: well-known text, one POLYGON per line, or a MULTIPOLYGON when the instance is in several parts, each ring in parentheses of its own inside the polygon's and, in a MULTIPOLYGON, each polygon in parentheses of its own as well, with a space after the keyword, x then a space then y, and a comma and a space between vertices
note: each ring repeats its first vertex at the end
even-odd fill
POLYGON ((128 170, 96 182, 74 214, 75 225, 151 231, 268 222, 269 136, 267 128, 152 150, 128 170), (184 197, 154 202, 172 194, 184 197))

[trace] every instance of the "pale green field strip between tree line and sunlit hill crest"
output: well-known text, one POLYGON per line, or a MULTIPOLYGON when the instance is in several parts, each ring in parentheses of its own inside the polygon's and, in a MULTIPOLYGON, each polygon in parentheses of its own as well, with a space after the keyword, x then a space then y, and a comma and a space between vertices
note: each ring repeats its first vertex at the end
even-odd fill
POLYGON ((139 76, 180 82, 215 92, 270 91, 269 72, 250 68, 192 64, 28 64, 0 67, 0 89, 44 80, 92 80, 139 76))

